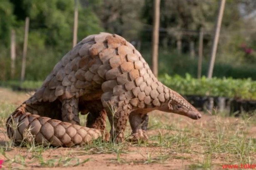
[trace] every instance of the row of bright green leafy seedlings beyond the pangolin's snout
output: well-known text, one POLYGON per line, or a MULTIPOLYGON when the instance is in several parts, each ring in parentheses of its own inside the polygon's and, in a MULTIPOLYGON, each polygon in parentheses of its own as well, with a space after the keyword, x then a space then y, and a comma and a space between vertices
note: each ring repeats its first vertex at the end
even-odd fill
POLYGON ((239 97, 256 100, 256 81, 233 78, 192 78, 188 73, 183 78, 179 75, 162 75, 159 80, 182 95, 201 95, 214 97, 239 97))

